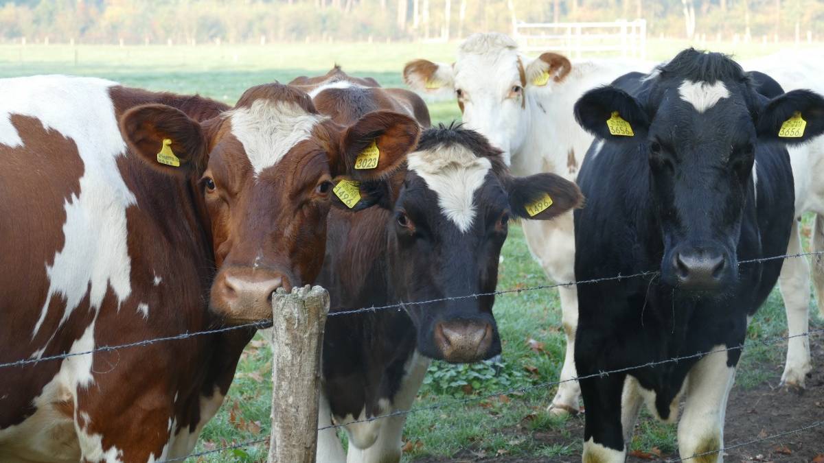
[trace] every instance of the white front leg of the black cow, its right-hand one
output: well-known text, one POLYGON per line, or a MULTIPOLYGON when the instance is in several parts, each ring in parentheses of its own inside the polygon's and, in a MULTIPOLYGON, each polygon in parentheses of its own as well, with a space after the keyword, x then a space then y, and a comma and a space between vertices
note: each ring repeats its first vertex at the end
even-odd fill
MULTIPOLYGON (((719 345, 710 350, 722 348, 719 345)), ((726 352, 710 353, 695 363, 687 375, 686 404, 678 423, 681 458, 700 463, 723 461, 719 451, 723 448, 723 420, 735 380, 735 367, 727 366, 727 358, 726 352)))

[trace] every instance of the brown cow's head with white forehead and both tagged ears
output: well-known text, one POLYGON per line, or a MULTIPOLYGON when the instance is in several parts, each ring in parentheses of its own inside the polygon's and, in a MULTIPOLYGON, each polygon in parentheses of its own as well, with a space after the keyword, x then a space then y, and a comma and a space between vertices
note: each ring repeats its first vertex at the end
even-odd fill
POLYGON ((194 185, 217 268, 210 307, 230 322, 267 319, 275 289, 311 283, 326 214, 339 204, 333 180, 380 178, 419 135, 413 119, 390 112, 335 124, 307 94, 280 84, 250 88, 232 110, 200 124, 166 105, 137 106, 121 131, 151 166, 194 185), (377 166, 358 169, 368 147, 377 166))

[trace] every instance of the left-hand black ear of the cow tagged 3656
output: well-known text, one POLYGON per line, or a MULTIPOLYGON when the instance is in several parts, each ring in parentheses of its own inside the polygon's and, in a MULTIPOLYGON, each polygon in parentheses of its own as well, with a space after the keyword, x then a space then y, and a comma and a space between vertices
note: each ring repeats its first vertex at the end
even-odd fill
POLYGON ((575 103, 578 124, 597 138, 635 142, 647 137, 649 118, 638 100, 616 87, 599 87, 575 103))

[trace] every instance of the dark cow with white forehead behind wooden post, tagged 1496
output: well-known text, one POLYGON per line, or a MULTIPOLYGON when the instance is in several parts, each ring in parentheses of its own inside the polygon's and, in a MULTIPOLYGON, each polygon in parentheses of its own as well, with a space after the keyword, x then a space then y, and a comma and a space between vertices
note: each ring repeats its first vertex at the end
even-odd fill
MULTIPOLYGON (((509 217, 547 220, 582 201, 569 180, 513 177, 482 135, 442 126, 424 131, 405 169, 370 188, 379 207, 330 216, 320 283, 332 312, 493 292, 509 217)), ((493 303, 481 296, 330 313, 321 426, 409 409, 430 358, 476 362, 499 354, 493 303)), ((345 426, 349 461, 399 461, 404 421, 345 426)), ((318 461, 342 460, 334 431, 321 432, 318 461)))

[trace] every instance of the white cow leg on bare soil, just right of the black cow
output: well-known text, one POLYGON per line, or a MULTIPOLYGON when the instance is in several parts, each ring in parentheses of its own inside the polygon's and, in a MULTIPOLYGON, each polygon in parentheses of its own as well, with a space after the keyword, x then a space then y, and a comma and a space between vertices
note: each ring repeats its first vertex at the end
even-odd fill
MULTIPOLYGON (((787 254, 801 252, 798 221, 793 222, 793 229, 789 235, 787 254)), ((810 269, 807 260, 794 258, 784 260, 781 268, 779 284, 781 296, 784 297, 784 306, 787 311, 787 325, 789 339, 787 346, 787 362, 784 364, 784 374, 781 383, 785 386, 803 388, 804 379, 812 370, 810 364, 810 340, 807 336, 799 336, 809 329, 810 307, 810 269), (793 337, 795 336, 795 337, 793 337)))

